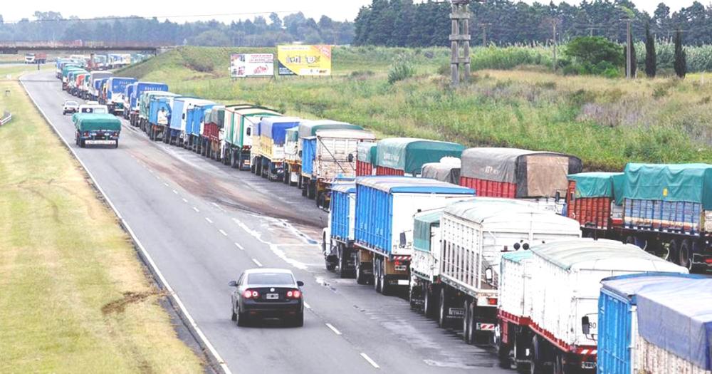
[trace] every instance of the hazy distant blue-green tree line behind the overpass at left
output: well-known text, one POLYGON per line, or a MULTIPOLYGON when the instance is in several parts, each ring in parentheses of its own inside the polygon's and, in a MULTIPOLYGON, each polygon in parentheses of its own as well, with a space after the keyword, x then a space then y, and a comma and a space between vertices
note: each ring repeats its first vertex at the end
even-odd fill
POLYGON ((78 19, 61 13, 36 11, 33 20, 5 23, 0 15, 0 41, 110 41, 194 46, 276 46, 280 43, 349 44, 350 21, 322 16, 318 21, 301 12, 281 18, 273 13, 225 24, 194 21, 178 24, 141 17, 78 19))

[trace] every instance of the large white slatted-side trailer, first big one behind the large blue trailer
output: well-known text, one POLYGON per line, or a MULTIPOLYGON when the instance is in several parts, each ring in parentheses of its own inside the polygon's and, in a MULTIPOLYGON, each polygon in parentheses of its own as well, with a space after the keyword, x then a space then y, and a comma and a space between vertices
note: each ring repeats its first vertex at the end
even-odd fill
POLYGON ((475 197, 449 204, 440 220, 440 284, 428 285, 439 292, 438 324, 461 321, 466 342, 492 342, 502 254, 580 236, 573 219, 533 202, 475 197))

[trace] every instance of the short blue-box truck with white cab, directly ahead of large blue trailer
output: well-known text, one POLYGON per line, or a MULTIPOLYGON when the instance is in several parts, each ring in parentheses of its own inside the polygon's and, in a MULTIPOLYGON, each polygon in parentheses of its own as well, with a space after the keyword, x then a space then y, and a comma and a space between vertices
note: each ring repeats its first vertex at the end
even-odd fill
POLYGON ((346 278, 355 271, 356 250, 354 225, 356 213, 356 182, 339 180, 332 186, 328 227, 323 230, 321 249, 326 269, 338 267, 339 276, 346 278))

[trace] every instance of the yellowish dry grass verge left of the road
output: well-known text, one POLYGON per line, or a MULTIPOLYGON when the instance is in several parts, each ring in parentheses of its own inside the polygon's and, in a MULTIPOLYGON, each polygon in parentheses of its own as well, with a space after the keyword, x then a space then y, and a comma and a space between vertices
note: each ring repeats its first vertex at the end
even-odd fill
POLYGON ((0 127, 0 367, 201 372, 115 216, 19 82, 0 82, 6 89, 0 109, 14 118, 0 127))

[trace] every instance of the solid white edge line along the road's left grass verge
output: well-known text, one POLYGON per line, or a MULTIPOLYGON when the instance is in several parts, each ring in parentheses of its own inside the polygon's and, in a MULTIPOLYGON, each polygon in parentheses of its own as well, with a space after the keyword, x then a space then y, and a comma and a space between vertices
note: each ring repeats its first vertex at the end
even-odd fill
POLYGON ((67 147, 69 152, 72 152, 72 155, 74 155, 74 158, 79 162, 79 165, 81 165, 83 167, 83 169, 85 170, 85 172, 87 173, 87 175, 89 175, 89 178, 94 183, 94 186, 96 187, 96 189, 98 189, 99 193, 102 194, 105 201, 109 204, 109 207, 111 207, 111 209, 114 211, 114 214, 116 214, 116 217, 119 219, 119 221, 122 222, 122 226, 125 227, 126 231, 129 233, 129 236, 131 237, 131 239, 136 243, 136 246, 138 247, 138 249, 140 249, 141 254, 144 256, 146 261, 148 261, 148 264, 150 265, 151 269, 153 269, 153 271, 155 272, 160 283, 165 287, 166 291, 168 291, 168 294, 177 303, 178 308, 182 312, 183 316, 185 316, 185 318, 188 320, 187 322, 189 323, 189 325, 192 326, 192 328, 195 330, 195 333, 197 334, 198 338, 204 343, 205 347, 208 348, 211 355, 215 358, 215 360, 217 361, 218 365, 220 365, 220 368, 224 371, 224 373, 232 374, 232 371, 228 367, 227 363, 225 363, 225 360, 223 360, 223 358, 220 356, 220 353, 218 353, 218 351, 215 349, 215 347, 212 345, 212 343, 210 343, 210 341, 208 340, 208 337, 205 336, 205 334, 203 333, 201 328, 198 327, 198 324, 193 319, 193 316, 190 315, 190 313, 189 313, 188 309, 185 307, 183 301, 181 301, 178 294, 176 294, 175 291, 173 291, 173 288, 168 283, 167 279, 165 279, 161 270, 158 269, 158 266, 153 261, 153 258, 151 257, 151 255, 148 253, 148 251, 146 251, 145 247, 143 246, 141 241, 138 239, 136 234, 133 232, 133 230, 131 229, 128 222, 126 222, 124 217, 121 215, 119 210, 116 209, 116 206, 109 198, 109 195, 106 194, 106 192, 104 192, 103 188, 101 188, 101 186, 97 182, 97 180, 94 177, 94 175, 92 174, 92 172, 89 171, 89 168, 87 167, 87 165, 85 165, 85 163, 79 158, 79 156, 77 155, 77 152, 74 150, 74 148, 72 148, 69 145, 69 142, 67 142, 67 140, 64 139, 64 137, 61 135, 61 133, 59 133, 59 130, 57 129, 57 127, 54 125, 54 123, 52 123, 52 121, 47 116, 47 113, 45 113, 45 111, 42 108, 40 108, 40 105, 38 105, 37 101, 31 95, 30 91, 27 90, 27 87, 26 87, 23 79, 20 79, 20 84, 22 85, 22 88, 25 90, 27 95, 30 97, 30 100, 32 100, 32 103, 34 103, 35 108, 37 108, 37 110, 40 111, 40 113, 42 114, 42 117, 44 117, 45 121, 52 127, 54 132, 57 134, 57 137, 59 137, 60 140, 62 140, 62 142, 64 143, 65 147, 67 147))

